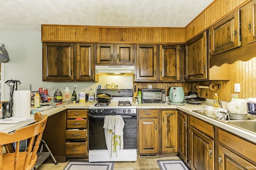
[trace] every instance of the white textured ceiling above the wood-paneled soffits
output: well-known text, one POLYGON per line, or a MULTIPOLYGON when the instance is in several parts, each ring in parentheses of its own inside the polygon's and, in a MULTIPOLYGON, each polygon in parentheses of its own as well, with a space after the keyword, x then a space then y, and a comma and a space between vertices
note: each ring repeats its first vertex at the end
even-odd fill
POLYGON ((2 0, 0 31, 41 24, 185 27, 213 0, 2 0))

